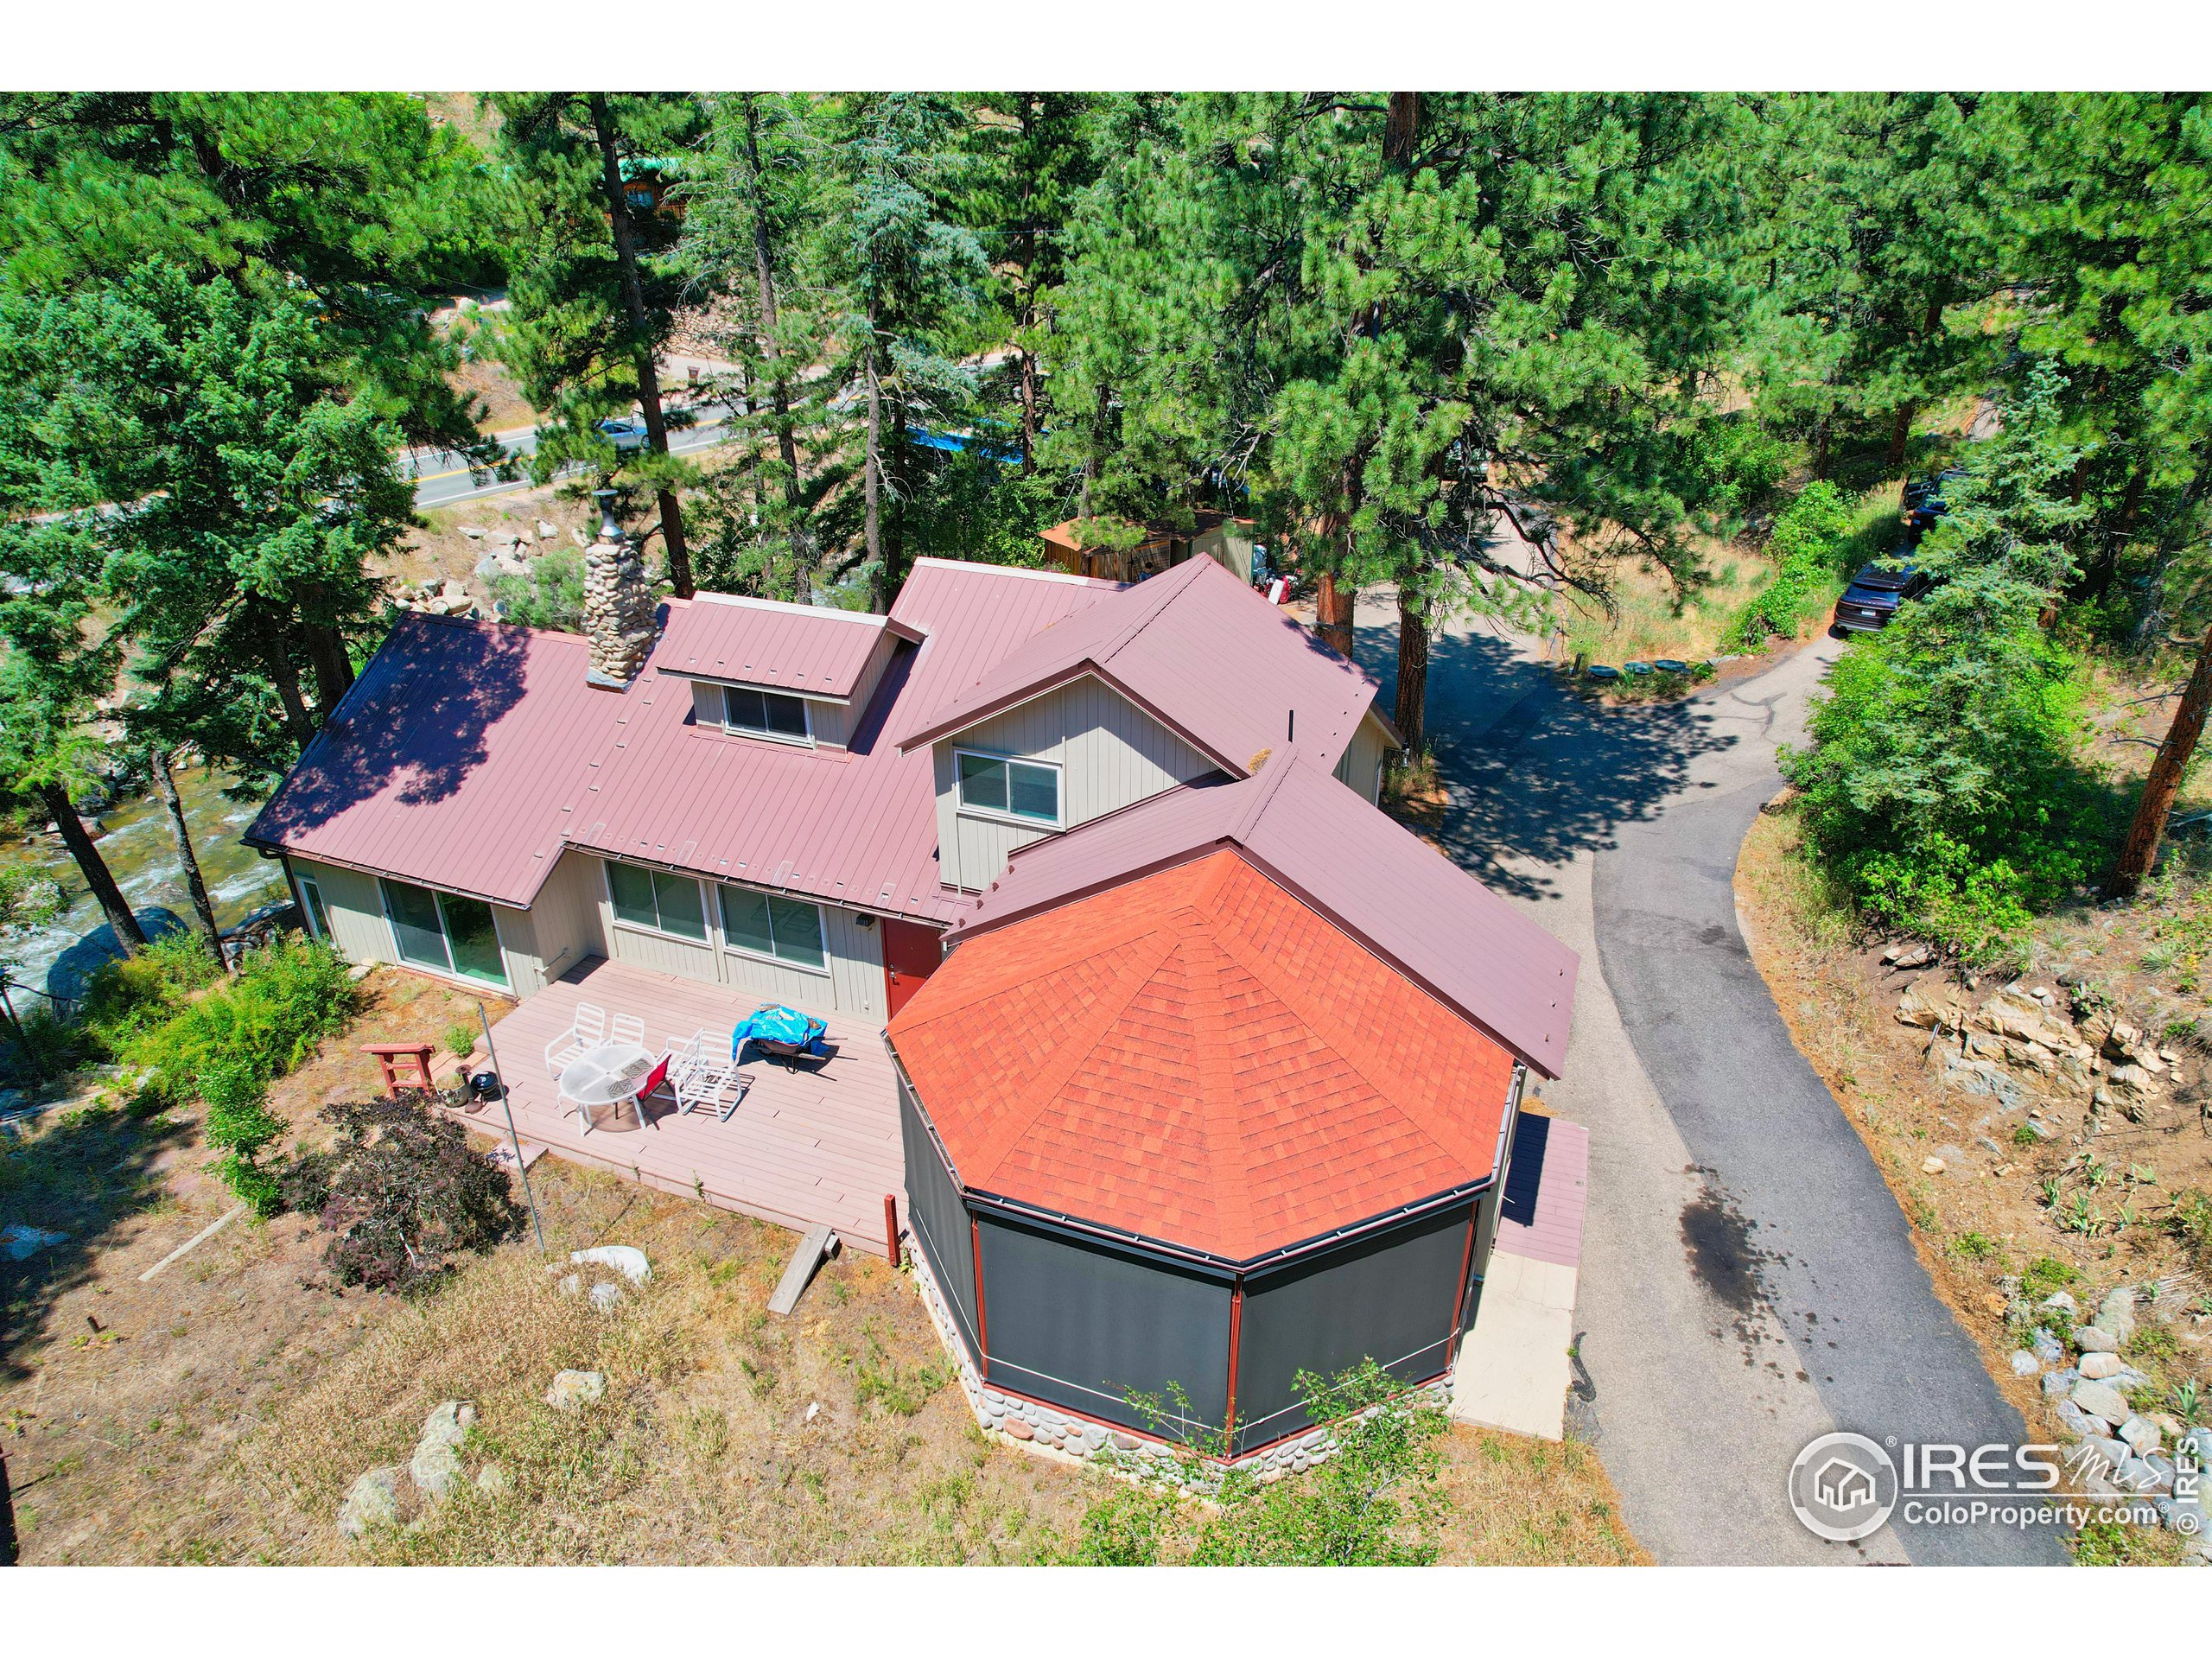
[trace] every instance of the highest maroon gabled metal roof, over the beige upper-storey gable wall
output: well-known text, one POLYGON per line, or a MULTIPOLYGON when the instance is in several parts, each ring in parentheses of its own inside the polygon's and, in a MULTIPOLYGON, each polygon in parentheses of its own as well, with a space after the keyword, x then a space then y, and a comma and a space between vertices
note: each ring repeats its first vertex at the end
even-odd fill
POLYGON ((1097 675, 1234 776, 1285 741, 1318 754, 1323 770, 1336 765, 1376 695, 1360 668, 1194 557, 987 664, 898 741, 933 743, 1079 675, 1097 675))

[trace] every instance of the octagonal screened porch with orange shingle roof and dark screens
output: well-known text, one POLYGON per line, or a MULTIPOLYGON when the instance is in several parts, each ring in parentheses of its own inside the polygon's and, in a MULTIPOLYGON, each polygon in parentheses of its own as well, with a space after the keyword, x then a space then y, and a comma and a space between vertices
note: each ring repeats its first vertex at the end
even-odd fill
POLYGON ((889 1026, 982 1385, 1243 1460, 1451 1369, 1522 1057, 1228 845, 960 945, 889 1026))

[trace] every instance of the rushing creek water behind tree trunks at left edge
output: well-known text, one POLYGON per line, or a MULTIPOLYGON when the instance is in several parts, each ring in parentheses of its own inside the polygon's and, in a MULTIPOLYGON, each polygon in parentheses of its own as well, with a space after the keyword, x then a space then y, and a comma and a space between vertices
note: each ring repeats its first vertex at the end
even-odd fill
MULTIPOLYGON (((252 847, 239 843, 239 834, 259 812, 250 801, 226 801, 221 772, 206 768, 177 772, 177 796, 184 801, 184 821, 192 830, 192 849, 199 854, 199 874, 208 883, 208 898, 215 902, 217 927, 237 927, 248 914, 270 900, 288 898, 283 865, 263 858, 252 847)), ((106 834, 93 845, 115 874, 115 885, 124 889, 133 911, 166 909, 177 918, 190 918, 192 896, 184 885, 184 863, 177 858, 177 838, 168 825, 168 810, 161 796, 146 792, 117 801, 106 812, 88 814, 106 825, 106 834)), ((15 964, 20 984, 44 987, 46 971, 80 940, 91 933, 106 933, 106 916, 77 872, 77 860, 69 856, 62 838, 40 827, 38 834, 0 845, 0 867, 38 869, 62 883, 69 894, 69 909, 51 925, 24 929, 0 938, 0 956, 15 964)), ((73 987, 53 987, 55 991, 73 987)))

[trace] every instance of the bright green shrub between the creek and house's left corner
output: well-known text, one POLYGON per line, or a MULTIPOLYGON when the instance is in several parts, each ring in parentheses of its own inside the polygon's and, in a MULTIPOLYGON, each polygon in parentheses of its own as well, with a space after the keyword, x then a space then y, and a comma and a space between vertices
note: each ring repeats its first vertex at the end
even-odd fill
POLYGON ((181 1000, 166 1018, 137 1018, 153 1006, 168 1004, 137 1004, 117 1057, 144 1066, 153 1091, 186 1099, 228 1064, 259 1082, 283 1077, 345 1029, 356 993, 345 958, 319 940, 290 938, 252 951, 228 984, 181 1000))

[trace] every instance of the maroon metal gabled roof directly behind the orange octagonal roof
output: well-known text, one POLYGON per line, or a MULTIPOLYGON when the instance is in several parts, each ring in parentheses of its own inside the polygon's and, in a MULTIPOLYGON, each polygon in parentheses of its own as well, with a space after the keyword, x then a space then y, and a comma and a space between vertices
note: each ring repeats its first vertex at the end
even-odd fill
POLYGON ((973 938, 1148 869, 1243 847, 1305 902, 1546 1077, 1566 1064, 1579 958, 1365 799, 1303 745, 1237 783, 1155 794, 1020 847, 951 938, 973 938))

